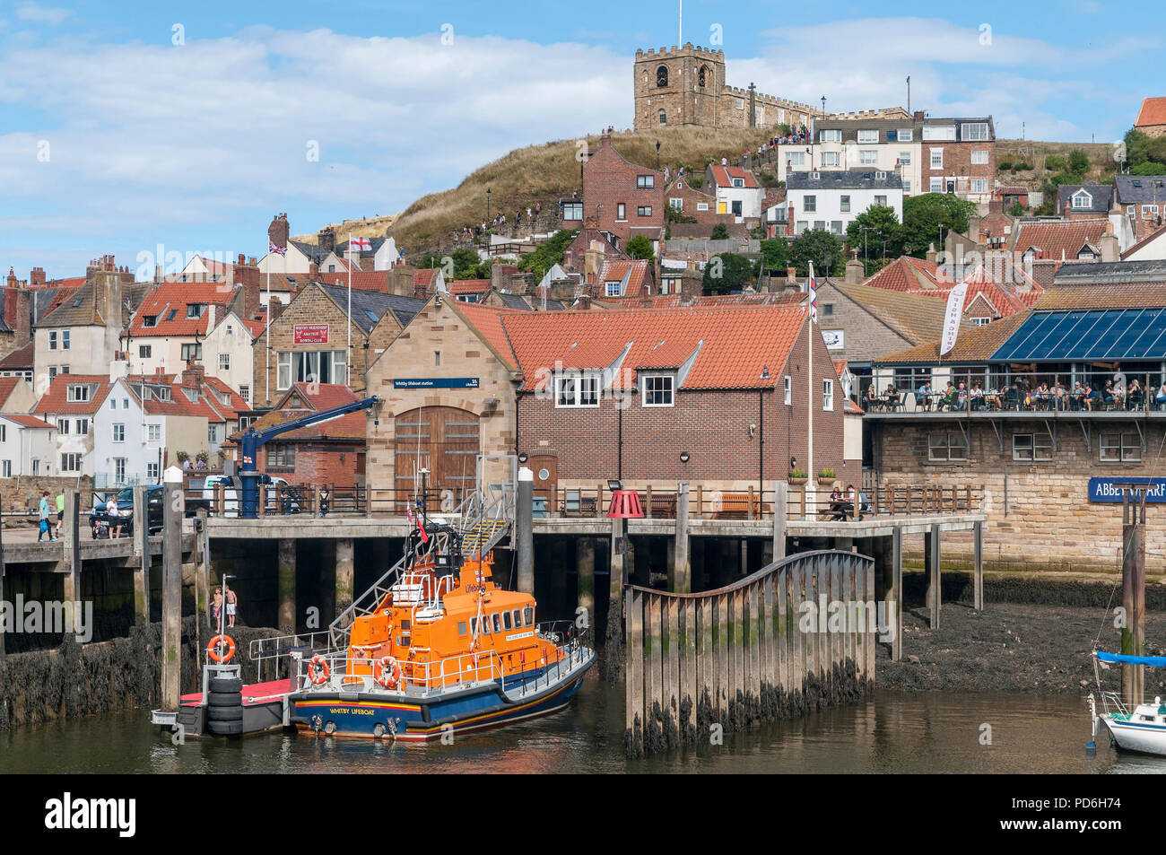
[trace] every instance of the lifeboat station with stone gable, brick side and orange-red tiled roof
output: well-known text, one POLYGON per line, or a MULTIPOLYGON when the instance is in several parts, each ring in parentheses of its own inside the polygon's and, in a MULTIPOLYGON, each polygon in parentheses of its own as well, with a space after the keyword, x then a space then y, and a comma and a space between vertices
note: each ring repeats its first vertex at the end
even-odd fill
POLYGON ((610 479, 711 495, 760 493, 791 469, 862 476, 861 413, 850 405, 848 446, 848 401, 801 303, 542 313, 430 300, 366 379, 385 400, 367 430, 374 502, 381 485, 413 489, 421 468, 435 489, 464 490, 478 454, 518 455, 548 513, 610 479))

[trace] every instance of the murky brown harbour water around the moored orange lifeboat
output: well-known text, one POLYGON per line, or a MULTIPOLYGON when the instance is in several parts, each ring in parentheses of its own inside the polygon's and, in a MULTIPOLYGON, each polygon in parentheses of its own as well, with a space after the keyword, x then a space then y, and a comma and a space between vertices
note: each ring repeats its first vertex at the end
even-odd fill
POLYGON ((405 745, 267 734, 171 744, 146 710, 0 734, 0 772, 1019 772, 1166 771, 1166 759, 1119 756, 1105 735, 1086 752, 1089 721, 1075 694, 878 691, 870 701, 729 734, 641 761, 624 757, 621 688, 589 674, 564 712, 454 745, 405 745), (990 731, 985 730, 990 727, 990 731), (990 736, 990 744, 983 744, 990 736))

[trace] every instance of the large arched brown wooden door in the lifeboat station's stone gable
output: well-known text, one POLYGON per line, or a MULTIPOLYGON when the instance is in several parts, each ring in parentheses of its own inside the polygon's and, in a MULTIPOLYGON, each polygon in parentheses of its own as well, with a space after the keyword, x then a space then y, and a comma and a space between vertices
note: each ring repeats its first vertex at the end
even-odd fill
POLYGON ((421 489, 429 470, 430 511, 454 510, 473 490, 480 450, 478 416, 457 407, 419 407, 394 419, 396 496, 421 489))

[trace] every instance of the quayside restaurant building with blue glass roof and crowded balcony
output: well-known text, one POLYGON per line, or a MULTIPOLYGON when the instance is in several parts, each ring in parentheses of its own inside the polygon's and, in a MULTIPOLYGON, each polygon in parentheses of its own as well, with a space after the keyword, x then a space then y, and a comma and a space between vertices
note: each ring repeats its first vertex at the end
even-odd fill
MULTIPOLYGON (((874 482, 982 486, 985 567, 1112 573, 1114 484, 1149 478, 1164 485, 1150 502, 1166 502, 1166 283, 1052 288, 939 350, 874 360, 879 402, 864 399, 874 482)), ((970 559, 957 538, 944 558, 970 559)), ((1146 538, 1147 568, 1166 570, 1163 527, 1146 538)))

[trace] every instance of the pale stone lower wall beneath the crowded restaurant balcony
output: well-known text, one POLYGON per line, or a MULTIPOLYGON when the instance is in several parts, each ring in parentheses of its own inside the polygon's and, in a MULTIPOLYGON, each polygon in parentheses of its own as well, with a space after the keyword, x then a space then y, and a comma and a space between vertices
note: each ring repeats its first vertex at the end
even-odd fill
MULTIPOLYGON (((1145 425, 1146 449, 1142 462, 1102 463, 1100 434, 1110 433, 1115 422, 1093 422, 1091 448, 1081 425, 1062 421, 1056 430, 1056 448, 1046 463, 1012 460, 1012 436, 1017 433, 1046 432, 1041 421, 1002 420, 1004 450, 991 425, 968 425, 968 460, 962 463, 928 461, 928 433, 958 430, 948 422, 872 422, 876 469, 880 484, 971 484, 984 488, 984 561, 986 566, 1055 570, 1108 570, 1121 566, 1122 511, 1119 504, 1090 503, 1090 477, 1163 476, 1158 450, 1166 442, 1164 427, 1145 425), (1006 484, 1005 484, 1006 482, 1006 484)), ((1124 432, 1137 436, 1137 428, 1124 422, 1124 432)), ((1163 513, 1150 505, 1146 527, 1146 567, 1166 570, 1166 528, 1154 524, 1163 513)), ((967 537, 944 535, 944 558, 971 558, 967 537)))

